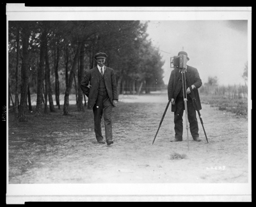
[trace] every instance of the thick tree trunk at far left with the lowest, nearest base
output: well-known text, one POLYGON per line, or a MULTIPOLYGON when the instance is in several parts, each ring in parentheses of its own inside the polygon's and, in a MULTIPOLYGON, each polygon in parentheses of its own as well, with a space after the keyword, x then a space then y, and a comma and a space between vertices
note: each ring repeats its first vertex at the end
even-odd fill
POLYGON ((20 105, 19 105, 19 121, 28 121, 26 117, 26 104, 28 93, 28 44, 29 29, 28 23, 24 23, 22 28, 22 66, 21 66, 21 88, 20 88, 20 105))

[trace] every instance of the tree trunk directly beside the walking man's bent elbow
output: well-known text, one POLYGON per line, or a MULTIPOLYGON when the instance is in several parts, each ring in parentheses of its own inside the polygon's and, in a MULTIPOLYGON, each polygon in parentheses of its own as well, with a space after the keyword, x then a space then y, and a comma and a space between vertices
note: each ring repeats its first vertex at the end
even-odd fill
MULTIPOLYGON (((80 87, 83 76, 84 76, 84 43, 82 43, 81 45, 81 50, 80 50, 80 57, 79 57, 79 61, 80 61, 80 67, 78 69, 78 95, 77 95, 77 111, 84 111, 84 107, 83 107, 83 91, 80 87)), ((85 100, 85 96, 84 96, 84 100, 85 100)), ((86 102, 85 102, 86 105, 86 102)))

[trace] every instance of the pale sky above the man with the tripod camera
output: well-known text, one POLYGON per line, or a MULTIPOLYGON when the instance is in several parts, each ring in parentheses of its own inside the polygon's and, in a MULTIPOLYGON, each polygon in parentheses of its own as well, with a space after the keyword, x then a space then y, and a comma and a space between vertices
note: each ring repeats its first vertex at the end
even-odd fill
POLYGON ((217 77, 220 85, 244 84, 248 61, 247 20, 151 20, 148 39, 165 61, 164 83, 168 84, 170 57, 184 50, 187 65, 197 68, 203 84, 217 77))

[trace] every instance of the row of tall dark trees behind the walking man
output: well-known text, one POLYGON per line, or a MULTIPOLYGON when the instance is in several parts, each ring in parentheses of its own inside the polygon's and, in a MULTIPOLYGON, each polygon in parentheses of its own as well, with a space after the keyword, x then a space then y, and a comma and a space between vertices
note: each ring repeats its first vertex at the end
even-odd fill
POLYGON ((54 94, 60 109, 60 93, 65 93, 63 114, 67 115, 74 88, 77 111, 83 111, 85 96, 79 86, 84 72, 95 66, 97 52, 108 54, 106 65, 115 70, 118 93, 139 94, 142 88, 150 93, 164 85, 164 62, 147 39, 147 22, 9 21, 8 26, 9 93, 15 95, 19 121, 26 121, 30 93, 37 96, 36 116, 42 114, 43 104, 45 113, 56 110, 54 94))

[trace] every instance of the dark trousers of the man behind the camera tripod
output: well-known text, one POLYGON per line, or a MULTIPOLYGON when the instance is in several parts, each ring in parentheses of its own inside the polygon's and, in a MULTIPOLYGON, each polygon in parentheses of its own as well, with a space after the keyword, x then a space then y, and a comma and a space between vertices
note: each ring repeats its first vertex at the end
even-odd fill
MULTIPOLYGON (((183 134, 183 113, 185 110, 184 98, 177 97, 176 102, 176 111, 174 112, 174 130, 175 130, 175 139, 182 140, 183 134)), ((196 119, 196 111, 193 107, 193 103, 191 99, 187 101, 188 106, 188 121, 189 121, 189 129, 193 139, 199 137, 198 134, 198 122, 196 119)))

